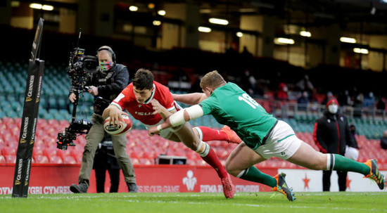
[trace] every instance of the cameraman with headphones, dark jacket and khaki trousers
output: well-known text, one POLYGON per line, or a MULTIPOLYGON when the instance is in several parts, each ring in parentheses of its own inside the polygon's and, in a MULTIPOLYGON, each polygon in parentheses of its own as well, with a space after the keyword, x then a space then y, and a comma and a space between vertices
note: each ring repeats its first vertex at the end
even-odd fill
MULTIPOLYGON (((94 96, 94 114, 91 117, 93 125, 86 136, 86 145, 84 146, 80 176, 78 178, 79 185, 72 184, 70 186, 70 191, 73 193, 87 193, 96 148, 105 135, 102 112, 118 96, 122 89, 125 89, 127 84, 129 84, 129 71, 127 67, 115 63, 115 53, 109 46, 101 46, 97 50, 97 58, 99 60, 99 67, 96 67, 96 71, 91 75, 91 79, 87 81, 87 85, 92 85, 87 88, 87 91, 94 96)), ((77 98, 75 93, 78 93, 77 89, 72 87, 69 95, 72 103, 77 98)), ((135 193, 137 192, 136 177, 132 162, 126 153, 126 136, 123 134, 111 136, 111 138, 115 156, 124 174, 129 193, 135 193)))

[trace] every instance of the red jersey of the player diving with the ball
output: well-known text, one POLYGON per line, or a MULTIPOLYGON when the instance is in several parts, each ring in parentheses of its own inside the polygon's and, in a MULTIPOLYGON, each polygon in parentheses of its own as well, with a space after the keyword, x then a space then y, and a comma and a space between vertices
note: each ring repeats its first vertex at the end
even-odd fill
POLYGON ((151 98, 144 103, 138 103, 134 96, 133 83, 130 83, 111 104, 118 106, 121 110, 126 109, 135 119, 143 124, 157 124, 163 118, 160 114, 152 115, 152 112, 155 110, 153 110, 153 106, 150 103, 151 100, 156 99, 168 111, 175 110, 175 102, 173 101, 172 94, 167 86, 158 82, 153 82, 153 87, 154 89, 151 98))

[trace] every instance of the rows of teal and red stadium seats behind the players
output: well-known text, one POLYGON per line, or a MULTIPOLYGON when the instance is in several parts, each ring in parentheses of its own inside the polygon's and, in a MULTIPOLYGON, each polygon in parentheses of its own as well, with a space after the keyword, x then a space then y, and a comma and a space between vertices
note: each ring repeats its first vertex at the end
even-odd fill
MULTIPOLYGON (((20 134, 20 124, 23 115, 23 102, 25 93, 25 76, 27 76, 27 63, 25 61, 3 61, 4 69, 0 69, 0 77, 4 81, 0 82, 0 164, 15 164, 15 155, 18 147, 20 134)), ((145 65, 145 64, 144 64, 145 65)), ((152 67, 152 65, 148 65, 152 67)), ((159 82, 167 84, 172 79, 170 73, 175 72, 175 66, 159 66, 160 71, 155 72, 155 78, 159 82)), ((193 70, 187 73, 192 73, 193 70)), ((82 160, 83 146, 86 143, 84 135, 78 136, 75 143, 77 146, 68 150, 58 150, 56 148, 56 136, 58 132, 68 127, 71 118, 72 105, 68 101, 68 88, 70 78, 65 72, 65 65, 46 63, 45 74, 42 85, 42 96, 39 108, 39 119, 37 122, 36 138, 34 143, 33 163, 34 164, 80 164, 82 160), (55 82, 55 83, 54 83, 55 82)), ((194 81, 194 79, 191 79, 194 81)), ((181 93, 181 91, 173 91, 181 93)), ((288 122, 296 131, 297 136, 317 149, 312 139, 313 124, 318 116, 318 110, 310 110, 308 113, 295 113, 293 111, 294 101, 274 101, 273 95, 269 92, 265 98, 258 99, 265 110, 273 113, 279 119, 288 122), (284 105, 289 112, 284 116, 284 105), (293 114, 292 114, 293 113, 293 114)), ((323 95, 319 100, 322 101, 323 95)), ((93 96, 89 93, 81 96, 79 107, 77 108, 78 119, 88 119, 92 114, 93 96)), ((182 107, 186 105, 182 104, 182 107)), ((127 134, 127 153, 133 164, 150 165, 156 164, 158 155, 177 155, 187 157, 187 164, 206 165, 201 158, 193 151, 186 148, 181 143, 167 141, 160 136, 148 136, 144 125, 133 120, 133 129, 127 134)), ((383 119, 372 118, 350 118, 350 123, 357 127, 357 143, 360 146, 359 161, 365 161, 370 157, 379 160, 381 169, 387 169, 387 150, 379 146, 378 139, 383 130, 387 129, 387 122, 383 119)), ((208 126, 220 129, 213 117, 205 116, 191 121, 193 126, 208 126)), ((210 141, 210 146, 214 148, 221 162, 227 160, 235 144, 225 141, 210 141)), ((296 168, 295 164, 272 158, 259 164, 259 167, 284 167, 296 168)))

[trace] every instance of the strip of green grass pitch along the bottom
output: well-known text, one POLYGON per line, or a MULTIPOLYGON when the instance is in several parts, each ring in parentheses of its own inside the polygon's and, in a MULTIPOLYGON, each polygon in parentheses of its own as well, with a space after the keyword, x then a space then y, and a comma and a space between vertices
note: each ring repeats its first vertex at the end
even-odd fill
POLYGON ((0 195, 1 213, 30 212, 387 212, 387 193, 296 193, 289 202, 277 193, 89 193, 0 195))

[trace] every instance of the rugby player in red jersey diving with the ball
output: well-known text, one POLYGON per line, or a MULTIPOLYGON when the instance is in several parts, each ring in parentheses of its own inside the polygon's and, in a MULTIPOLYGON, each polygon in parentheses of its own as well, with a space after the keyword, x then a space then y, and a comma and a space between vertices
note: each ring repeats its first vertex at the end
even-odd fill
MULTIPOLYGON (((163 123, 178 110, 177 103, 172 98, 170 90, 162 84, 155 82, 149 70, 140 69, 134 75, 133 82, 129 84, 103 111, 103 119, 110 116, 111 124, 118 124, 121 115, 127 115, 122 110, 127 110, 135 119, 142 122, 147 129, 163 123)), ((183 142, 185 146, 196 151, 201 158, 215 169, 222 181, 223 192, 226 198, 234 197, 234 185, 229 174, 222 166, 215 151, 204 141, 230 141, 241 143, 241 138, 224 127, 221 131, 208 127, 195 127, 186 122, 179 127, 165 129, 160 132, 163 138, 183 142)))

